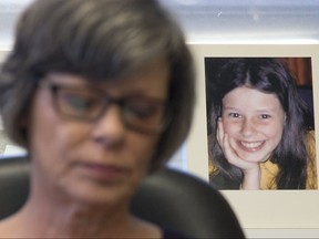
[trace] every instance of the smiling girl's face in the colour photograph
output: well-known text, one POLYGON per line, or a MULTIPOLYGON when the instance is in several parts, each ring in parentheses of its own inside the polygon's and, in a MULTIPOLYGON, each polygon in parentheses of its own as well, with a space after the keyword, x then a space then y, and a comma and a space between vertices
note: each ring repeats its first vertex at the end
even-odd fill
POLYGON ((248 162, 269 158, 281 139, 285 118, 275 94, 240 86, 223 98, 224 132, 237 156, 248 162))

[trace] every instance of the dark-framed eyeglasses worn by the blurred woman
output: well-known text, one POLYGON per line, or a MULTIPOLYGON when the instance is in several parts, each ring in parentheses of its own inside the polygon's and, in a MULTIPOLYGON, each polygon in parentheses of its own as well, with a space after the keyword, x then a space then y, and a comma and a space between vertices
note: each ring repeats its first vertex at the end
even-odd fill
POLYGON ((121 118, 127 128, 156 134, 167 127, 171 118, 166 101, 158 98, 145 96, 115 98, 99 89, 49 82, 43 82, 41 86, 51 91, 55 111, 70 119, 95 122, 110 105, 115 104, 121 108, 121 118))

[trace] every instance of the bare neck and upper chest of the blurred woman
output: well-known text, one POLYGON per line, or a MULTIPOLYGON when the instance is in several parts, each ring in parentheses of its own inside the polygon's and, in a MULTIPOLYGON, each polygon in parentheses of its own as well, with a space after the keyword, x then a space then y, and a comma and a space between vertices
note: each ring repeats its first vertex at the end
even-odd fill
POLYGON ((158 227, 131 215, 128 197, 109 204, 76 199, 61 188, 48 187, 49 183, 37 181, 31 181, 23 208, 0 224, 0 237, 161 238, 158 227))

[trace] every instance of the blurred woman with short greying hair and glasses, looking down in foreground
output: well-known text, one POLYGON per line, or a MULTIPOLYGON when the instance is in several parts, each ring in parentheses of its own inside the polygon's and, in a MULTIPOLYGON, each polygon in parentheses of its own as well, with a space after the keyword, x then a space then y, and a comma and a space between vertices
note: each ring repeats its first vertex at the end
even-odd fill
POLYGON ((32 3, 0 73, 4 129, 29 153, 31 188, 0 237, 182 237, 130 202, 185 141, 193 104, 191 54, 156 1, 32 3))

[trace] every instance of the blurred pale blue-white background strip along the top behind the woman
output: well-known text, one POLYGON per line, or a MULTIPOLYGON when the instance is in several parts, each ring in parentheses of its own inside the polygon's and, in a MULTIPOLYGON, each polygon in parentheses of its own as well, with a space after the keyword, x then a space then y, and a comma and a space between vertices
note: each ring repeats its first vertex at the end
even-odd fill
MULTIPOLYGON (((160 0, 183 25, 187 42, 319 41, 318 0, 160 0)), ((0 0, 0 49, 31 0, 0 0)))

